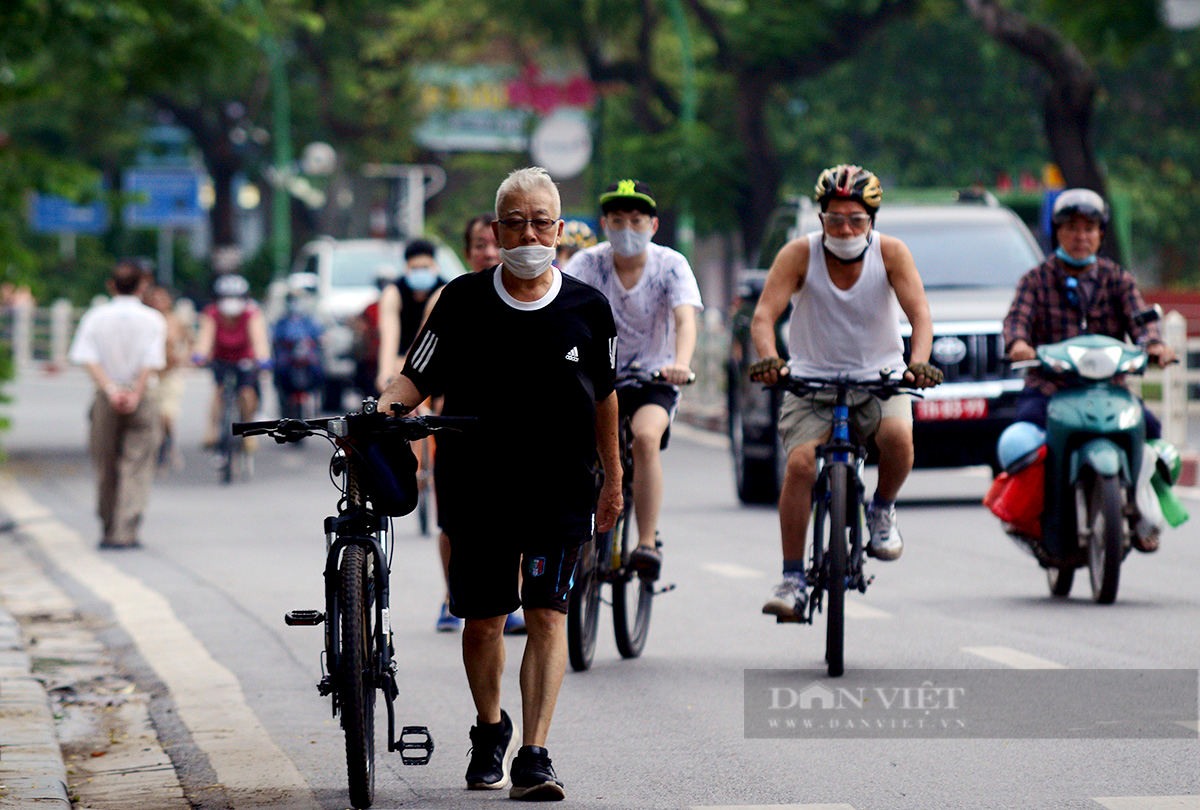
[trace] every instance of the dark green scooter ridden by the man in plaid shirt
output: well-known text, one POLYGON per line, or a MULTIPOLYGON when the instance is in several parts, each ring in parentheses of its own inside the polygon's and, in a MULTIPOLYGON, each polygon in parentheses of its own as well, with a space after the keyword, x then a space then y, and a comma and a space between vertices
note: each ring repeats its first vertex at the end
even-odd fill
MULTIPOLYGON (((1157 319, 1153 310, 1139 316, 1157 319)), ((1093 598, 1108 605, 1116 600, 1121 562, 1139 529, 1135 486, 1146 443, 1141 402, 1114 378, 1142 373, 1148 355, 1103 335, 1040 346, 1037 355, 1013 366, 1039 366, 1068 380, 1046 408, 1038 559, 1057 596, 1070 593, 1075 569, 1086 565, 1093 598)))

